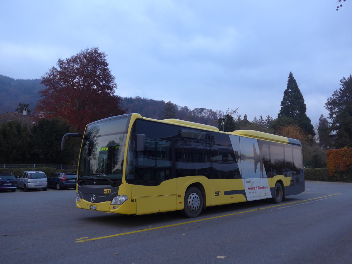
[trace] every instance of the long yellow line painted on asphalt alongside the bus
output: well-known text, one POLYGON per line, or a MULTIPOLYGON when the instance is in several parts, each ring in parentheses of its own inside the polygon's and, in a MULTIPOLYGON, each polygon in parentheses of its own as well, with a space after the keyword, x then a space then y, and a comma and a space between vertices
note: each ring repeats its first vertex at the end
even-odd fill
POLYGON ((105 237, 96 237, 96 238, 88 238, 88 239, 84 239, 84 238, 87 238, 87 237, 79 238, 79 239, 76 238, 76 240, 77 240, 76 243, 87 242, 87 241, 92 241, 92 240, 98 240, 98 239, 103 239, 103 238, 118 237, 118 236, 120 236, 120 235, 134 234, 134 233, 145 232, 145 231, 150 231, 150 230, 156 230, 156 229, 165 228, 165 227, 171 227, 171 226, 179 226, 179 225, 184 225, 184 224, 190 224, 190 223, 195 223, 195 222, 200 222, 200 221, 205 221, 205 220, 211 220, 211 219, 221 218, 221 217, 225 217, 225 216, 231 216, 231 215, 235 215, 235 214, 249 213, 249 212, 253 212, 253 211, 257 211, 257 210, 264 210, 264 209, 279 207, 279 206, 283 206, 283 205, 285 205, 285 206, 286 206, 286 205, 291 205, 291 204, 293 204, 293 203, 300 203, 300 202, 306 202, 306 201, 321 199, 321 198, 325 198, 325 197, 329 197, 329 196, 334 196, 334 195, 338 195, 338 194, 340 194, 340 193, 335 193, 335 194, 331 194, 331 195, 316 197, 316 198, 307 199, 307 200, 302 200, 302 201, 297 201, 297 202, 290 202, 290 203, 279 204, 279 205, 274 205, 274 206, 269 206, 269 207, 264 207, 264 208, 252 209, 252 210, 247 210, 247 211, 238 212, 238 213, 225 214, 225 215, 213 216, 213 217, 209 217, 209 218, 197 219, 197 220, 188 221, 188 222, 182 222, 182 223, 178 223, 178 224, 172 224, 172 225, 166 225, 166 226, 158 226, 158 227, 153 227, 153 228, 146 228, 146 229, 143 229, 143 230, 136 230, 136 231, 126 232, 126 233, 120 233, 120 234, 114 234, 114 235, 107 235, 107 236, 105 236, 105 237))

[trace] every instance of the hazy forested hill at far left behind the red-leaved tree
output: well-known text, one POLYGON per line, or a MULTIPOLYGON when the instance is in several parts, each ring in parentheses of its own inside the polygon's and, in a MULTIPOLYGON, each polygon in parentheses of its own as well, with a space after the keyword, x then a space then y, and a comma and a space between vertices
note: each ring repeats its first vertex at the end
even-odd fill
POLYGON ((45 87, 40 79, 13 79, 0 75, 0 113, 15 112, 19 103, 28 103, 34 109, 40 97, 39 90, 45 87))

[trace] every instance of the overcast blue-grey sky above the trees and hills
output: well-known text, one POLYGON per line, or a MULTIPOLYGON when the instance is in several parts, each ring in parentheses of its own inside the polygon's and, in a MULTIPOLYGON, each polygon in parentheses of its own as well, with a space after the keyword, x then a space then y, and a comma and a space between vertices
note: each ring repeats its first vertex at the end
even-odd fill
POLYGON ((276 118, 292 71, 315 125, 352 74, 352 0, 2 0, 0 74, 98 47, 120 96, 276 118))

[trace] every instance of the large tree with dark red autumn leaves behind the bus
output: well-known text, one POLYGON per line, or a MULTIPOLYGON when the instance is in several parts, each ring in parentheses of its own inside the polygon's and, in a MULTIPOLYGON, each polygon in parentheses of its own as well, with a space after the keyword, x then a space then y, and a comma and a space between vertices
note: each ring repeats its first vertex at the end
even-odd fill
POLYGON ((34 110, 38 117, 62 118, 82 133, 90 122, 126 113, 105 57, 98 48, 87 48, 58 59, 42 76, 46 89, 39 92, 42 99, 34 110))

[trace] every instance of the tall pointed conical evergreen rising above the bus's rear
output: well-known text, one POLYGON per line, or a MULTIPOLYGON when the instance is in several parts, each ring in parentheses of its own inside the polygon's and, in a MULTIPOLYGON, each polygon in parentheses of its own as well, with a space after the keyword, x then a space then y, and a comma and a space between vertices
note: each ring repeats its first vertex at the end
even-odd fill
POLYGON ((281 101, 281 109, 277 116, 279 119, 286 117, 292 120, 292 124, 297 124, 302 130, 308 133, 312 138, 315 135, 314 127, 306 114, 307 106, 304 103, 303 95, 298 88, 297 82, 290 71, 287 89, 281 101))

